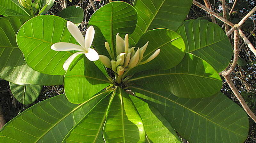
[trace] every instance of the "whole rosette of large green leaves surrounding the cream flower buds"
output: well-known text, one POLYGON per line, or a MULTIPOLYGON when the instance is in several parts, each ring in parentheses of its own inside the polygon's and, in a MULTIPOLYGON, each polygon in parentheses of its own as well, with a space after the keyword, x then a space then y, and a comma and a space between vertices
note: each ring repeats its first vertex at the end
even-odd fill
POLYGON ((181 143, 182 137, 191 143, 243 143, 247 115, 220 93, 218 72, 228 65, 220 59, 230 61, 231 45, 218 25, 184 22, 191 3, 111 2, 92 15, 89 25, 95 29, 93 47, 99 54, 111 59, 104 43, 116 51, 117 33, 122 38, 130 34, 129 47, 149 41, 148 56, 161 49, 154 60, 125 71, 127 80, 121 83, 113 82, 116 77, 100 61, 89 61, 84 55, 64 71, 63 63, 76 51, 57 52, 50 46, 78 44, 68 32, 67 21, 50 15, 28 20, 17 34, 18 46, 31 68, 64 75, 65 95, 15 117, 0 131, 0 141, 181 143))

